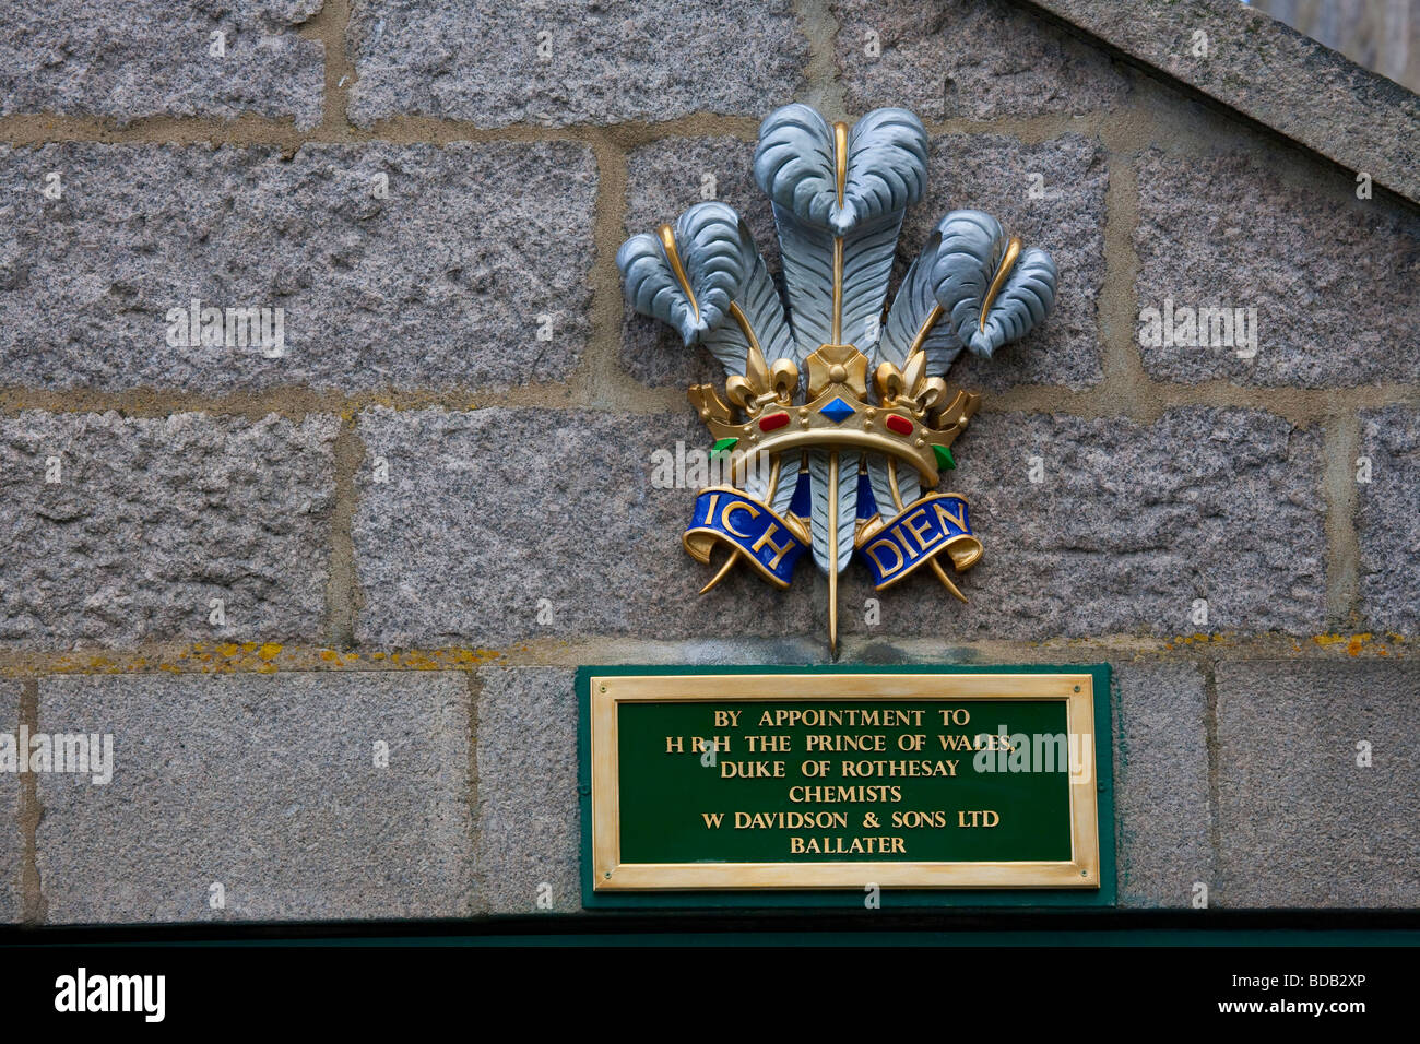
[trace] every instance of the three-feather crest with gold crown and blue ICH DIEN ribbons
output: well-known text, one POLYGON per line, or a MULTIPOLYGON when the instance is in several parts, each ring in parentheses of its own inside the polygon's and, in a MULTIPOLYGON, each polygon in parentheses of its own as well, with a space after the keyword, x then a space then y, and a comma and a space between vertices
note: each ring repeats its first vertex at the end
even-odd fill
POLYGON ((838 575, 856 551, 879 589, 920 567, 961 601, 939 561, 981 557, 967 501, 933 493, 956 467, 953 440, 980 396, 947 385, 963 348, 990 358, 1055 303, 1055 263, 1021 249, 980 210, 953 210, 907 268, 883 317, 897 233, 922 199, 927 132, 905 109, 875 109, 849 129, 807 105, 760 126, 754 175, 774 202, 781 298, 754 239, 723 203, 632 236, 616 254, 626 300, 710 349, 728 375, 690 388, 727 453, 730 482, 696 494, 686 550, 730 558, 788 587, 811 550, 828 575, 828 641, 838 646, 838 575), (869 372, 872 391, 869 392, 869 372), (767 466, 765 466, 767 462, 767 466))

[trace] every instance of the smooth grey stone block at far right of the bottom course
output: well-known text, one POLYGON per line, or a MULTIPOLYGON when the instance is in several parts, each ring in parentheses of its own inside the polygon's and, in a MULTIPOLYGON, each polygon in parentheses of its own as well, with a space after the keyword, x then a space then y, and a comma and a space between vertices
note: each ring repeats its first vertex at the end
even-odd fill
POLYGON ((1220 663, 1217 689, 1217 905, 1420 903, 1420 669, 1220 663))

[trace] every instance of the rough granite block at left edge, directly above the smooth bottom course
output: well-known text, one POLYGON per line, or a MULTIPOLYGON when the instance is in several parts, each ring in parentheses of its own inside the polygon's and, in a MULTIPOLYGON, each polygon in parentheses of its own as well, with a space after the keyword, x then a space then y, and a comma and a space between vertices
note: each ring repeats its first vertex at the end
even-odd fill
POLYGON ((0 420, 0 642, 320 638, 338 429, 274 415, 0 420))

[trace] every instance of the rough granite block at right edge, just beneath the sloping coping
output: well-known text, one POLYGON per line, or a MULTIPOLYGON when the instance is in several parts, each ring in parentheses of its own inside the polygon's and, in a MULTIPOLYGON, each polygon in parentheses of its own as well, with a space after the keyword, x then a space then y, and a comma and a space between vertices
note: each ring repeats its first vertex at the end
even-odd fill
MULTIPOLYGON (((1413 381, 1420 369, 1420 219, 1355 185, 1299 185, 1241 155, 1140 162, 1139 307, 1255 308, 1257 354, 1156 347, 1159 381, 1326 388, 1413 381)), ((1181 320, 1180 320, 1181 322, 1181 320)), ((1211 342, 1210 342, 1211 345, 1211 342)))

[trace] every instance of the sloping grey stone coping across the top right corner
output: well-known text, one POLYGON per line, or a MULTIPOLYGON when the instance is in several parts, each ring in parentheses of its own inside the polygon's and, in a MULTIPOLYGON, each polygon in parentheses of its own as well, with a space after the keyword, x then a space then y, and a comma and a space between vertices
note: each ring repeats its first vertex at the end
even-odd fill
POLYGON ((1420 203, 1420 99, 1281 21, 1231 0, 1031 4, 1420 203))

